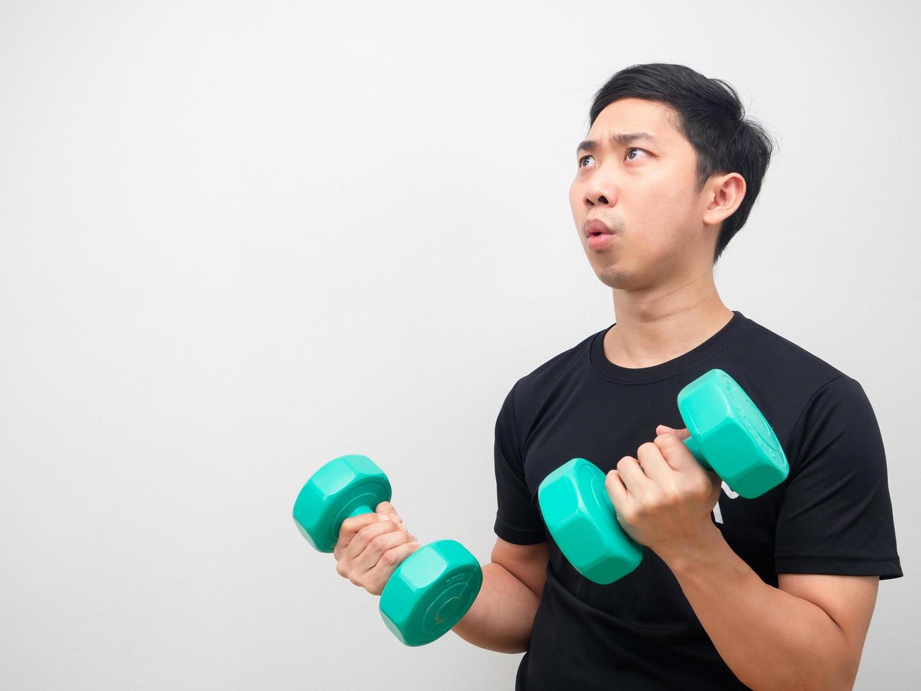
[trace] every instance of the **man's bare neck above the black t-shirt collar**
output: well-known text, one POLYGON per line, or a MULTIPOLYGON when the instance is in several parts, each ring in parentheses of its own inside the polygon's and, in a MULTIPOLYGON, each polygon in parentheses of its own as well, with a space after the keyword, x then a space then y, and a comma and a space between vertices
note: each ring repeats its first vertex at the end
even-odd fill
POLYGON ((604 338, 604 353, 615 365, 659 365, 693 350, 732 319, 708 271, 643 290, 613 289, 616 325, 604 338))

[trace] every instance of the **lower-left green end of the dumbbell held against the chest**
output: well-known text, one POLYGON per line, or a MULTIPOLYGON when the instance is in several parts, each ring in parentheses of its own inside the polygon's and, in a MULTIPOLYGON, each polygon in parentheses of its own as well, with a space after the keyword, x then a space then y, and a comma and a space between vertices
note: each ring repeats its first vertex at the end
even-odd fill
POLYGON ((643 547, 617 522, 604 477, 594 463, 574 458, 547 475, 537 494, 543 521, 569 563, 607 584, 639 566, 643 547))

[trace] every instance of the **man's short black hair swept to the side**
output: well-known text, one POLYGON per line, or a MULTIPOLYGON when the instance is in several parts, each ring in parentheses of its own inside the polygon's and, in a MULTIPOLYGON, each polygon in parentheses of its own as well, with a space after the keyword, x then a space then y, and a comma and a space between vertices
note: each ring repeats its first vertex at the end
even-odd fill
POLYGON ((761 124, 745 119, 734 88, 683 64, 634 64, 616 73, 595 94, 589 129, 613 101, 630 98, 659 101, 674 109, 675 126, 697 154, 695 194, 704 189, 712 175, 737 172, 745 179, 745 196, 739 208, 720 228, 713 257, 716 264, 748 219, 775 143, 761 124))

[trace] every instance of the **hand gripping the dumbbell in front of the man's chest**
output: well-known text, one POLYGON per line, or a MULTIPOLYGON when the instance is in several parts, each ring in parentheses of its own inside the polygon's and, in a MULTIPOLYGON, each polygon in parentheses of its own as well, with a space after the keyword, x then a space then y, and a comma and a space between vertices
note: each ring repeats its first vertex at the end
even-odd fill
POLYGON ((655 441, 624 456, 605 478, 608 497, 624 531, 665 555, 689 553, 718 529, 710 520, 722 481, 705 471, 684 445, 687 428, 656 427, 655 441))

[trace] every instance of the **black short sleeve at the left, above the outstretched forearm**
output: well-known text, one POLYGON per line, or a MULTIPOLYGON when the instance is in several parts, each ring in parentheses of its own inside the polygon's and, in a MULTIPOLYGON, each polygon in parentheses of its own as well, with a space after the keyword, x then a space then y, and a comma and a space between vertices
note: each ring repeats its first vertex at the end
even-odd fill
POLYGON ((515 421, 515 389, 495 419, 495 534, 516 545, 537 545, 547 539, 540 509, 537 508, 524 476, 518 429, 515 421))

